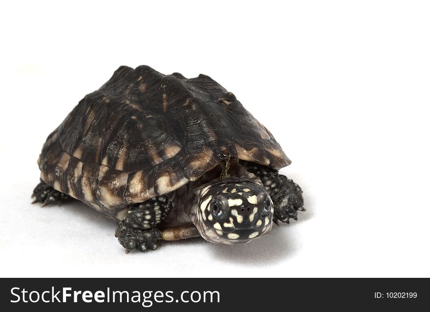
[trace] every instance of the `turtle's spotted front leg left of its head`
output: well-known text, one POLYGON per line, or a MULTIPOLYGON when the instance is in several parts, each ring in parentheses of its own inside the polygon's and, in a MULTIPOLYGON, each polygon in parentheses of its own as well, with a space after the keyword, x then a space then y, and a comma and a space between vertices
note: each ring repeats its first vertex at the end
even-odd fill
POLYGON ((128 216, 115 230, 115 237, 129 253, 131 250, 148 251, 157 248, 161 231, 156 228, 172 205, 167 196, 152 197, 150 200, 130 206, 128 216))

